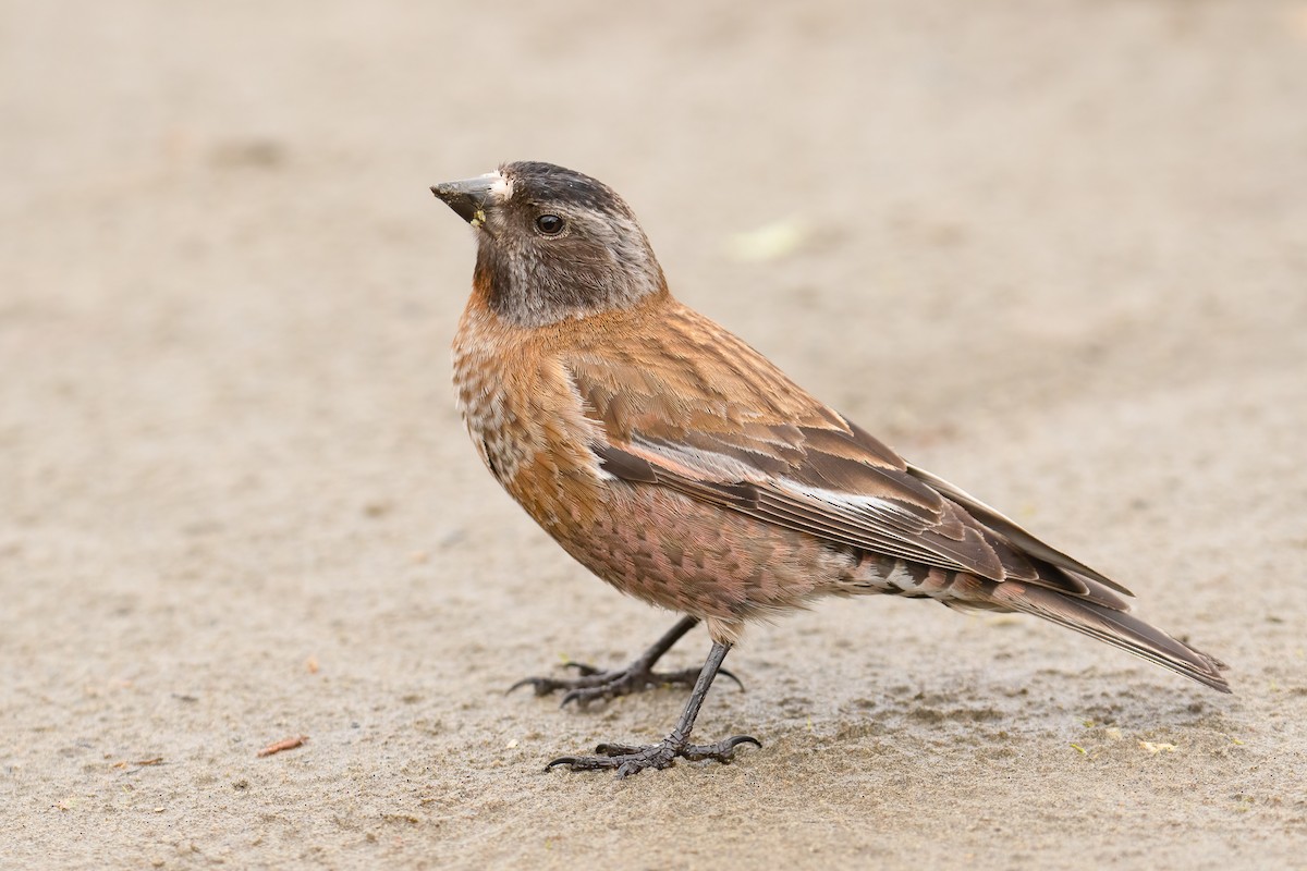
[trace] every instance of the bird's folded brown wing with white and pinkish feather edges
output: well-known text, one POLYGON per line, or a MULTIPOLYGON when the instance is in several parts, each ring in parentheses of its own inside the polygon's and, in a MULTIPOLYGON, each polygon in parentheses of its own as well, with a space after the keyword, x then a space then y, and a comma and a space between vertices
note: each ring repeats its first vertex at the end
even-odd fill
MULTIPOLYGON (((606 435, 595 445, 603 467, 835 545, 1128 609, 1117 595, 1125 588, 908 466, 748 346, 732 350, 753 358, 748 371, 761 370, 753 384, 738 379, 744 367, 714 372, 736 381, 714 387, 707 373, 664 376, 651 371, 656 363, 610 354, 569 362, 586 413, 606 435)), ((677 355, 651 355, 659 359, 677 355)))

